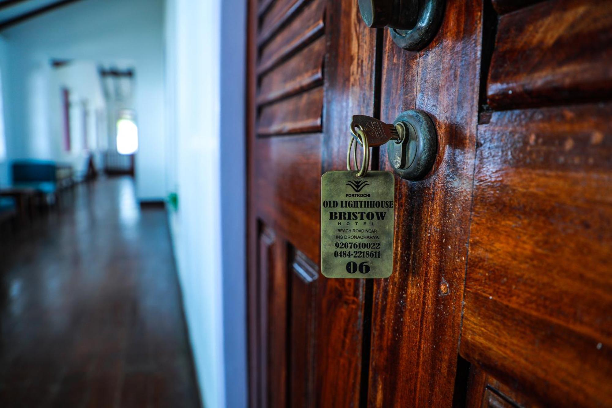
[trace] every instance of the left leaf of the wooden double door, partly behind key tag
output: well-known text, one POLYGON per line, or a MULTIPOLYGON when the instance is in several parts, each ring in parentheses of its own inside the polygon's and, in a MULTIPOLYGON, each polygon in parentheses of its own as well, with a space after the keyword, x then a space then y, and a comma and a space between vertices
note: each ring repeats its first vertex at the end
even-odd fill
MULTIPOLYGON (((248 279, 250 298, 268 298, 266 342, 251 342, 249 350, 267 362, 258 368, 251 358, 250 377, 265 376, 265 383, 251 382, 251 405, 356 407, 365 285, 315 279, 319 189, 323 172, 345 165, 351 116, 373 113, 376 31, 356 18, 354 1, 250 6, 248 279), (347 58, 335 58, 347 52, 347 58), (267 274, 265 288, 252 284, 258 225, 274 230, 276 245, 285 251, 277 255, 284 269, 275 269, 282 276, 267 274), (272 309, 282 305, 285 314, 276 315, 272 309)), ((253 307, 262 309, 260 303, 253 307)), ((261 324, 258 313, 250 311, 250 336, 261 324)))

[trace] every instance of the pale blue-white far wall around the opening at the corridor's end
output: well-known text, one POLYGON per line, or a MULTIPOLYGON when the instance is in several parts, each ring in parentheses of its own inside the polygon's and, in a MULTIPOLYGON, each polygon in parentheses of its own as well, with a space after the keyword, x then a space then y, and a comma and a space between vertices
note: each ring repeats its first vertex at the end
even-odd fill
POLYGON ((62 159, 61 128, 47 104, 59 92, 51 89, 50 59, 129 59, 136 72, 140 137, 136 193, 140 200, 165 197, 163 4, 84 0, 2 32, 8 45, 4 84, 10 159, 62 159))

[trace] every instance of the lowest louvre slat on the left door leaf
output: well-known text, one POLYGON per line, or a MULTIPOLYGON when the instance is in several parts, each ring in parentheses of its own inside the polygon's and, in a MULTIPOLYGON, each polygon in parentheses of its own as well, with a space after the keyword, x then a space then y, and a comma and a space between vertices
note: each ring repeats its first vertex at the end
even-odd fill
POLYGON ((261 108, 257 134, 260 136, 321 132, 323 88, 311 89, 261 108))

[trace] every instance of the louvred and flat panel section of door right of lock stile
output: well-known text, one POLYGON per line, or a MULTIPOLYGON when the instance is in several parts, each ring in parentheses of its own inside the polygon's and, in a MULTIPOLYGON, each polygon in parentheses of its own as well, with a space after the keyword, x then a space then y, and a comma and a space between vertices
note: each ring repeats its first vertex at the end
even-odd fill
POLYGON ((460 345, 480 379, 470 406, 612 406, 612 3, 493 6, 460 345))

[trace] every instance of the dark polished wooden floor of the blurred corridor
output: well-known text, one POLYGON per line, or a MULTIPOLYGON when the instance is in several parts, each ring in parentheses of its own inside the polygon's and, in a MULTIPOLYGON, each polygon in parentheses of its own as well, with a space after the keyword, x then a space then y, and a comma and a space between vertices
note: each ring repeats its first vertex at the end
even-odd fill
POLYGON ((2 240, 0 407, 196 407, 165 211, 76 186, 2 240))

